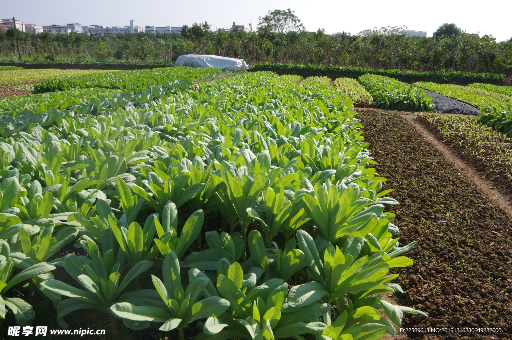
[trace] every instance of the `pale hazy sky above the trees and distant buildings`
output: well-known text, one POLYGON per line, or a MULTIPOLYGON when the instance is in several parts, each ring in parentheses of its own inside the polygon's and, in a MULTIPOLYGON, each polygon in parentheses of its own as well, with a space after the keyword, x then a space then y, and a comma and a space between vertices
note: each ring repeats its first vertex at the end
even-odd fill
POLYGON ((409 30, 426 31, 428 36, 442 24, 456 24, 466 33, 493 35, 497 41, 512 38, 512 1, 487 0, 466 2, 453 0, 430 0, 415 2, 365 1, 304 1, 304 0, 259 0, 259 1, 164 1, 152 0, 69 0, 8 1, 0 0, 0 18, 16 17, 26 24, 182 27, 195 22, 207 21, 212 29, 230 28, 233 21, 248 29, 258 27, 259 17, 268 11, 290 8, 302 20, 307 31, 325 29, 328 34, 361 31, 396 26, 407 26, 409 30))

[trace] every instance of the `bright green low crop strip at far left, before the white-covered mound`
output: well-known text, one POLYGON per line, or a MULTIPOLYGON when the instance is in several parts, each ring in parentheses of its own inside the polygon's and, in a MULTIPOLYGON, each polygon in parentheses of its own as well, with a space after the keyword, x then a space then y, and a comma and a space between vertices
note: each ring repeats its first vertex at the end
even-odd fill
POLYGON ((154 70, 134 70, 109 72, 81 77, 57 78, 44 81, 35 86, 35 92, 63 91, 74 88, 110 88, 125 92, 136 92, 151 85, 168 85, 176 80, 196 80, 212 78, 224 74, 219 69, 193 67, 165 67, 154 70))

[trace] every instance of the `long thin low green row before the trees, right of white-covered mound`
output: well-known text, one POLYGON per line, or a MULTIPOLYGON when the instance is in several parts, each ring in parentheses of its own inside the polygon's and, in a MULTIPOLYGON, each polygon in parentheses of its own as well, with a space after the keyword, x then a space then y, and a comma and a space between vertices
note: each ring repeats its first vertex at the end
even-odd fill
POLYGON ((421 77, 421 78, 437 78, 446 81, 454 79, 467 79, 467 80, 495 80, 501 81, 505 78, 501 74, 492 73, 469 73, 469 72, 416 72, 416 71, 400 71, 400 70, 373 70, 365 69, 362 67, 343 67, 343 66, 323 66, 323 65, 293 65, 293 64, 279 64, 279 63, 257 63, 254 64, 254 69, 262 70, 293 70, 293 71, 308 71, 308 72, 334 72, 334 73, 355 73, 360 75, 375 74, 380 76, 402 76, 402 77, 421 77))

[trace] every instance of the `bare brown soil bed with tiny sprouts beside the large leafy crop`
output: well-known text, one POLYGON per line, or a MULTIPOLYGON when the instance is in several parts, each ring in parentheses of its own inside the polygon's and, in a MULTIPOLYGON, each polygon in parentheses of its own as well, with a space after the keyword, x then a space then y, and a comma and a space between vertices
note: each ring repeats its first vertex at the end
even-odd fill
POLYGON ((406 314, 403 328, 479 327, 501 332, 408 332, 420 339, 511 339, 512 220, 406 119, 357 109, 377 172, 401 203, 393 207, 413 266, 395 268, 398 298, 429 313, 406 314), (447 224, 439 223, 446 221, 447 224))

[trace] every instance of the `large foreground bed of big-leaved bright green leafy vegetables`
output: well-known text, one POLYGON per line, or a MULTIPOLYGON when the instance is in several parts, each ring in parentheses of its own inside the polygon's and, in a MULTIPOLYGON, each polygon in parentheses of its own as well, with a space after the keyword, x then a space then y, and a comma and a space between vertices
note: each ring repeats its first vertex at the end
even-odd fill
POLYGON ((401 291, 389 269, 411 265, 400 255, 416 242, 393 238, 384 204, 397 201, 367 167, 353 102, 275 78, 203 83, 97 116, 67 111, 0 140, 1 294, 18 324, 33 309, 11 288, 31 278, 62 327, 95 308, 180 338, 206 319, 200 339, 377 339, 395 332, 378 309, 396 325, 404 311, 424 314, 376 295, 401 291), (55 258, 76 238, 88 256, 55 258), (78 286, 55 280, 55 266, 78 286), (133 290, 151 267, 162 268, 156 289, 133 290), (302 268, 310 281, 297 284, 302 268))

